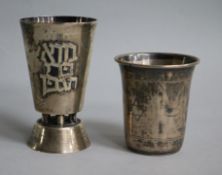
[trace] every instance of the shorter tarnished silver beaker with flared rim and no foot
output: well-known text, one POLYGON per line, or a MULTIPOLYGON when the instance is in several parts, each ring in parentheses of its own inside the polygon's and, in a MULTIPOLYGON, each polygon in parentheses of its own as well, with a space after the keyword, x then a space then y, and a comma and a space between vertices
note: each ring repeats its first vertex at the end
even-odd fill
POLYGON ((170 53, 116 57, 122 73, 125 137, 138 152, 164 154, 183 143, 189 90, 198 58, 170 53))

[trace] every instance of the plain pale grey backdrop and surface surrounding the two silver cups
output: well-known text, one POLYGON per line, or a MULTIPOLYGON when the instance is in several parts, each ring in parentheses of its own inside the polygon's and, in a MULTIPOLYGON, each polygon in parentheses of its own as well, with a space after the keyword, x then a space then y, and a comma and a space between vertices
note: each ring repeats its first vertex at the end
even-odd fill
POLYGON ((220 175, 222 170, 222 1, 0 0, 0 174, 220 175), (35 112, 19 18, 81 15, 98 19, 83 119, 92 141, 75 154, 31 150, 35 112), (165 156, 125 148, 122 89, 115 55, 191 54, 194 71, 184 145, 165 156))

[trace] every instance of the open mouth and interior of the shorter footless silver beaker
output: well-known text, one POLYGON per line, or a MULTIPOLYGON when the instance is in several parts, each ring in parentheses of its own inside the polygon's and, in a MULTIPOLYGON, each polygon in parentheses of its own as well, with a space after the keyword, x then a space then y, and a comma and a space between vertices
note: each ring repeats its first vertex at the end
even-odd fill
POLYGON ((116 61, 120 64, 142 67, 183 67, 193 66, 199 59, 176 53, 131 53, 117 56, 116 61))

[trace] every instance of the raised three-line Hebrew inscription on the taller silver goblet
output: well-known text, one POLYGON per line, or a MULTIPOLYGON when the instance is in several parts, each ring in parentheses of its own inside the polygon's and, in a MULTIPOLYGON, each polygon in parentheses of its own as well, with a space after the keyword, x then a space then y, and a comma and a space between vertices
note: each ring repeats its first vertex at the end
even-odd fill
POLYGON ((40 73, 42 95, 75 90, 78 77, 74 75, 77 45, 71 42, 44 41, 39 44, 39 59, 43 63, 40 73))

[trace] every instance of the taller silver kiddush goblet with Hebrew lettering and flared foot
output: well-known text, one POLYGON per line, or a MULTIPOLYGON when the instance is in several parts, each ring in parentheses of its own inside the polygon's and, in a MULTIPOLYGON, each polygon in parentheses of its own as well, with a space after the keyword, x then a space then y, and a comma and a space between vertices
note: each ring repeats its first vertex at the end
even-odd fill
POLYGON ((96 19, 78 16, 20 20, 35 109, 42 117, 28 145, 38 151, 72 153, 90 141, 82 121, 96 19))

